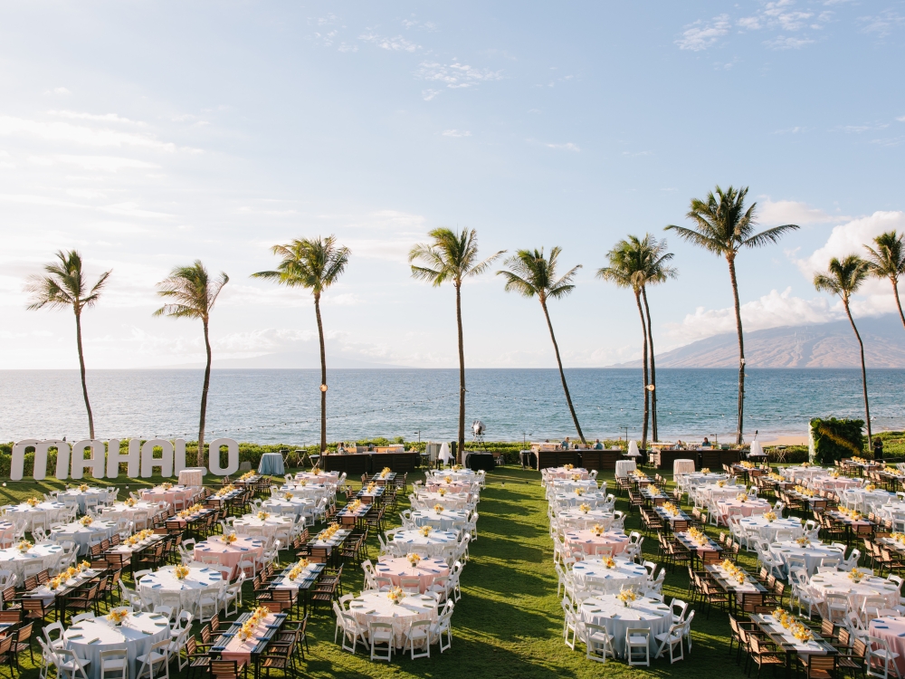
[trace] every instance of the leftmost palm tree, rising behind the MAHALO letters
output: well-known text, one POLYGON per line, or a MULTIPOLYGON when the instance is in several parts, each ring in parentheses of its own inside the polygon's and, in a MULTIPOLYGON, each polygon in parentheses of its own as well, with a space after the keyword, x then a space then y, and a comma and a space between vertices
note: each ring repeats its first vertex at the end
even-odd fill
POLYGON ((81 394, 85 397, 85 409, 88 410, 88 430, 91 439, 94 438, 94 416, 91 413, 91 404, 88 400, 88 384, 85 381, 85 354, 81 349, 81 312, 90 309, 98 300, 100 292, 104 289, 111 271, 100 274, 98 282, 88 288, 84 275, 81 272, 81 254, 76 250, 64 253, 62 250, 56 253, 59 262, 53 262, 44 266, 46 276, 33 276, 25 286, 26 292, 32 293, 32 303, 29 309, 63 309, 71 307, 75 314, 75 339, 79 347, 79 368, 81 369, 81 394))

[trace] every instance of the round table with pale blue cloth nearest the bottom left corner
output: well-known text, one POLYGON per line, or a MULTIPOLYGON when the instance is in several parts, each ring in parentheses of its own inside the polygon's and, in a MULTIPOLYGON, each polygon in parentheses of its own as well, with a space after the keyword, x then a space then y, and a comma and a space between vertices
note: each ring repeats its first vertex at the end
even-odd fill
POLYGON ((85 667, 88 679, 100 679, 100 653, 126 651, 129 676, 138 674, 138 655, 145 655, 159 641, 170 638, 167 617, 154 613, 130 613, 123 623, 114 626, 106 617, 81 620, 62 634, 75 655, 90 660, 85 667))

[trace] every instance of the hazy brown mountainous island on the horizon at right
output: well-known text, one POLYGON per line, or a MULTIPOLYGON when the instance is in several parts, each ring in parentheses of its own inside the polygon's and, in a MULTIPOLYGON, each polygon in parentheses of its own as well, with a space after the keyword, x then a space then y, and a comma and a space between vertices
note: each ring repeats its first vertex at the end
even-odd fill
MULTIPOLYGON (((905 368, 905 328, 897 314, 857 319, 868 368, 905 368)), ((736 368, 735 332, 699 339, 657 354, 657 368, 736 368)), ((860 368, 858 343, 847 320, 745 333, 749 368, 860 368)), ((630 361, 609 368, 640 368, 630 361)))

